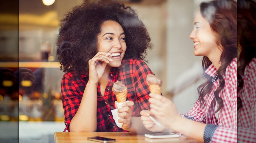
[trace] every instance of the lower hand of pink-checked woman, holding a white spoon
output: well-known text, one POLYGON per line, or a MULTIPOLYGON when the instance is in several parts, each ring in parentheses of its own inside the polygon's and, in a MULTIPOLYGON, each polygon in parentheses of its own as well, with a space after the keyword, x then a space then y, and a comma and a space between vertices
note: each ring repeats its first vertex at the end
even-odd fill
POLYGON ((140 119, 142 120, 142 123, 144 125, 144 127, 151 131, 151 132, 165 132, 166 130, 166 126, 165 125, 161 125, 158 126, 149 116, 150 116, 150 111, 148 110, 142 110, 140 111, 140 119))

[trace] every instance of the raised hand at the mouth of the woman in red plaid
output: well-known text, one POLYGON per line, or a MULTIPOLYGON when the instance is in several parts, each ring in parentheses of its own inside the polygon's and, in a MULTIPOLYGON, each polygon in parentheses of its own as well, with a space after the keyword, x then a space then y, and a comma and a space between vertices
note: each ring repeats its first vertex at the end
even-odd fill
POLYGON ((98 84, 108 63, 112 62, 109 56, 111 53, 98 52, 92 59, 89 60, 89 79, 94 84, 98 84))

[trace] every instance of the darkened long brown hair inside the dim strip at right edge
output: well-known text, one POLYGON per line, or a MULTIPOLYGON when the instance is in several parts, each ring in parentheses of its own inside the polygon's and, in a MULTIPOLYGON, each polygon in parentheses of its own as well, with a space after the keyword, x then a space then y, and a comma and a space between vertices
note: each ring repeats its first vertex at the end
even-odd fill
MULTIPOLYGON (((237 24, 238 24, 238 43, 241 46, 241 53, 238 61, 239 66, 237 68, 237 91, 239 93, 242 90, 244 81, 243 74, 245 67, 250 63, 252 58, 256 58, 256 3, 252 0, 239 0, 238 1, 238 13, 237 13, 237 24)), ((237 110, 242 108, 242 100, 238 94, 237 110)))

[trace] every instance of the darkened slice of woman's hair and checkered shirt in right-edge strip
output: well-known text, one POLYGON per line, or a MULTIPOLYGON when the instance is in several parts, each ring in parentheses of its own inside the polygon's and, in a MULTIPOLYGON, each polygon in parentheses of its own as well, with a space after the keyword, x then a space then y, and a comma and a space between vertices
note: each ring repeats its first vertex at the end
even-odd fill
POLYGON ((256 3, 239 0, 238 24, 238 142, 256 140, 256 3))

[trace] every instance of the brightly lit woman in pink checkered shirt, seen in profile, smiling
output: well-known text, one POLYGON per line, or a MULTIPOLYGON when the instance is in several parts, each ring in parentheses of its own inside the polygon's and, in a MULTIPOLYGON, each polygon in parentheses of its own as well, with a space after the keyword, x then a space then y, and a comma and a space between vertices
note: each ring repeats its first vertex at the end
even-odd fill
POLYGON ((198 101, 182 115, 172 101, 150 93, 151 110, 140 113, 143 124, 153 132, 169 127, 202 142, 237 142, 237 3, 202 2, 190 39, 194 55, 203 56, 206 78, 198 87, 198 101), (156 126, 149 115, 165 126, 156 126))

